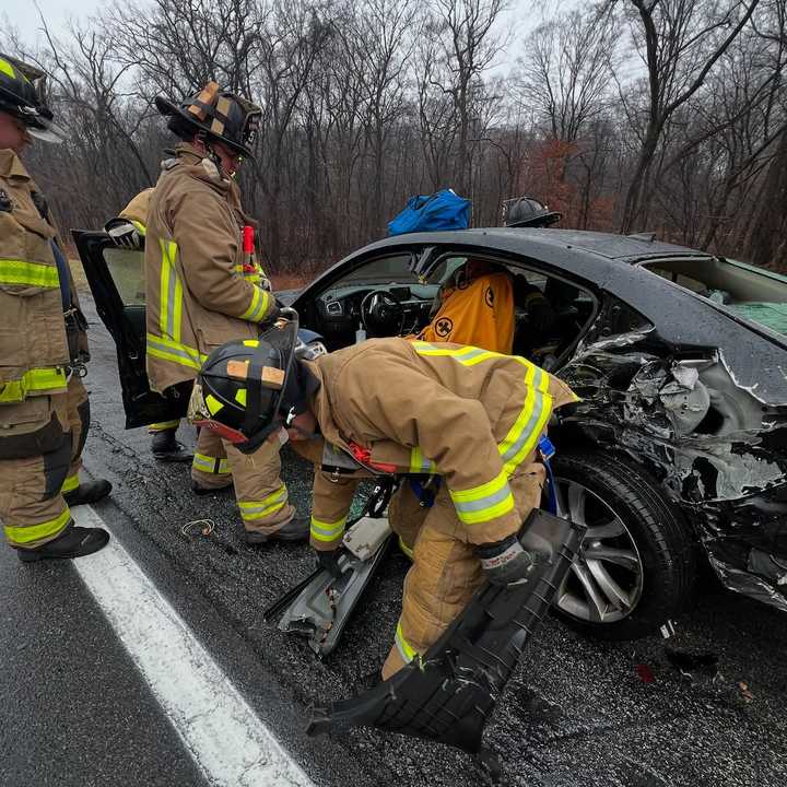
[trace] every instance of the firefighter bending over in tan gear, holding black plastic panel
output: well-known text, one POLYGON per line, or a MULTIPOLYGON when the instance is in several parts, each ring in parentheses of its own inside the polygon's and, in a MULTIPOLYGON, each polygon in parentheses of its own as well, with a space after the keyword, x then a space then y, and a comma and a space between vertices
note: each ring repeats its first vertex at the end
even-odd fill
MULTIPOLYGON (((312 460, 324 442, 368 473, 441 480, 414 542, 387 679, 437 641, 484 576, 527 579, 537 556, 516 535, 541 500, 538 445, 552 411, 576 397, 525 359, 459 344, 372 339, 295 357, 284 374, 289 357, 267 337, 214 351, 198 376, 196 420, 221 424, 242 449, 285 430, 312 460)), ((357 483, 315 472, 312 545, 332 573, 357 483)))

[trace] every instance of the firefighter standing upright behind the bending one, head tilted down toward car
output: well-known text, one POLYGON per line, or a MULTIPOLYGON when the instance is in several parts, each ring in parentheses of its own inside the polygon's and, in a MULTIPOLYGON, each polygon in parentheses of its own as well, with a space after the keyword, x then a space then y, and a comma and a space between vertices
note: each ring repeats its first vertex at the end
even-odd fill
MULTIPOLYGON (((163 96, 155 104, 181 140, 162 163, 145 234, 148 375, 163 393, 183 391, 212 349, 256 339, 279 307, 256 260, 256 222, 244 213, 234 179, 250 155, 259 107, 215 82, 181 104, 163 96)), ((280 471, 279 446, 265 443, 244 455, 202 430, 192 489, 208 494, 234 483, 248 543, 305 540, 308 519, 295 516, 280 471)))

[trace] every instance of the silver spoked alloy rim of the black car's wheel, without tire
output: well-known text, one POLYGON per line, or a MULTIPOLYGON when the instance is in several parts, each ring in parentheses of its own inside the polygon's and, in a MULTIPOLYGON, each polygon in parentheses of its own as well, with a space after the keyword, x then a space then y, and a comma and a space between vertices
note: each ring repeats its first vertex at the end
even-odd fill
POLYGON ((584 622, 621 621, 642 598, 644 567, 636 542, 623 519, 599 495, 576 481, 555 481, 561 516, 587 527, 555 604, 584 622))

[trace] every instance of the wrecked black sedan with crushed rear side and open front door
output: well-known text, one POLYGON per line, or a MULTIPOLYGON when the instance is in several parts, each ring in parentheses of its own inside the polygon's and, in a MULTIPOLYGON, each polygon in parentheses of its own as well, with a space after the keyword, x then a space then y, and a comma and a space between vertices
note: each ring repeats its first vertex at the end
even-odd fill
MULTIPOLYGON (((146 386, 140 254, 74 236, 118 344, 128 425, 183 414, 146 386)), ((514 352, 582 397, 550 425, 560 508, 587 528, 557 613, 642 636, 685 603, 701 560, 787 611, 787 279, 647 236, 469 230, 366 246, 293 306, 329 350, 412 334, 470 259, 514 277, 514 352), (533 287, 531 314, 516 293, 533 287)))

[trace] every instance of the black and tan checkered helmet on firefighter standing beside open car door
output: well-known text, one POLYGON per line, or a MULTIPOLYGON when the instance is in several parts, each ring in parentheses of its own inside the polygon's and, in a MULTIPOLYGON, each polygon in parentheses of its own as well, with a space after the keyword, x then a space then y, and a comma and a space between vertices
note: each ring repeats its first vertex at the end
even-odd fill
POLYGON ((209 82, 180 104, 156 96, 155 105, 162 115, 169 118, 167 127, 180 139, 203 133, 208 141, 218 140, 236 153, 251 157, 251 145, 262 110, 246 98, 222 91, 215 82, 209 82))

